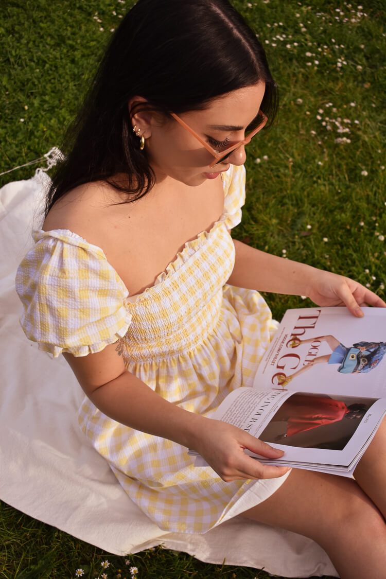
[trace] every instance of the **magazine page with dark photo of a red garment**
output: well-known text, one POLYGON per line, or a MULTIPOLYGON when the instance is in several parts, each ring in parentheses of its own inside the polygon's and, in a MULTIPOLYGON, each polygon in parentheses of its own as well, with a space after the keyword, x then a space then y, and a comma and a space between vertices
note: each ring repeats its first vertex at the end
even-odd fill
MULTIPOLYGON (((275 460, 245 451, 262 463, 351 476, 385 413, 386 399, 245 387, 230 393, 213 418, 284 450, 275 460)), ((207 466, 201 457, 195 464, 207 466)))

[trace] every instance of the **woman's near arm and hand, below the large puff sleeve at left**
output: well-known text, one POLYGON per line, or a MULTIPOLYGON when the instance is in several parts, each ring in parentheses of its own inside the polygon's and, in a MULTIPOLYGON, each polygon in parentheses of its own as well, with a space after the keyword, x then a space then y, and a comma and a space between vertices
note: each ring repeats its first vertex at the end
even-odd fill
POLYGON ((197 450, 225 481, 281 477, 285 467, 262 465, 244 454, 248 448, 277 458, 281 451, 244 430, 209 419, 164 400, 126 370, 116 343, 88 356, 64 354, 84 393, 106 416, 182 446, 197 450))

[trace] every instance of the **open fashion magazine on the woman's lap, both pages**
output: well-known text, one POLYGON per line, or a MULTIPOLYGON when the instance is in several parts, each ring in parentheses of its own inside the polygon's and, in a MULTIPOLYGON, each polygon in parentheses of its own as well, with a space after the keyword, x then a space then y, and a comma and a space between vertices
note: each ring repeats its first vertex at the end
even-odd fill
POLYGON ((275 460, 245 451, 261 463, 350 477, 386 413, 386 309, 364 311, 288 310, 253 387, 231 392, 211 417, 285 451, 275 460))

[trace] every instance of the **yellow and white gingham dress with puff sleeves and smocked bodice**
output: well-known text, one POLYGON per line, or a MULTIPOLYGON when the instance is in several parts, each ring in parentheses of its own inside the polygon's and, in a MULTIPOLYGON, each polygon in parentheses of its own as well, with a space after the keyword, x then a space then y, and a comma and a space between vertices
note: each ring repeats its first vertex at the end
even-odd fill
MULTIPOLYGON (((241 220, 244 167, 222 175, 225 206, 209 232, 186 243, 155 285, 137 298, 101 248, 69 230, 34 232, 17 271, 21 325, 39 348, 86 356, 124 337, 134 373, 168 401, 211 416, 240 386, 251 386, 276 329, 258 292, 226 284, 233 269, 229 229, 241 220)), ((188 449, 110 419, 86 397, 79 424, 123 489, 157 525, 204 533, 267 499, 286 477, 224 482, 194 467, 188 449)))

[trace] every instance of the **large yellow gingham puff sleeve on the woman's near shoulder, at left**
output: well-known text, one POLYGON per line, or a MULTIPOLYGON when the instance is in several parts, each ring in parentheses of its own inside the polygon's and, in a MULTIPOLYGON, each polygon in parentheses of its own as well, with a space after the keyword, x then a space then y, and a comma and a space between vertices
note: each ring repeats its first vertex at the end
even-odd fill
POLYGON ((16 274, 27 338, 57 357, 87 356, 124 336, 128 291, 101 248, 68 230, 34 232, 34 240, 16 274))

